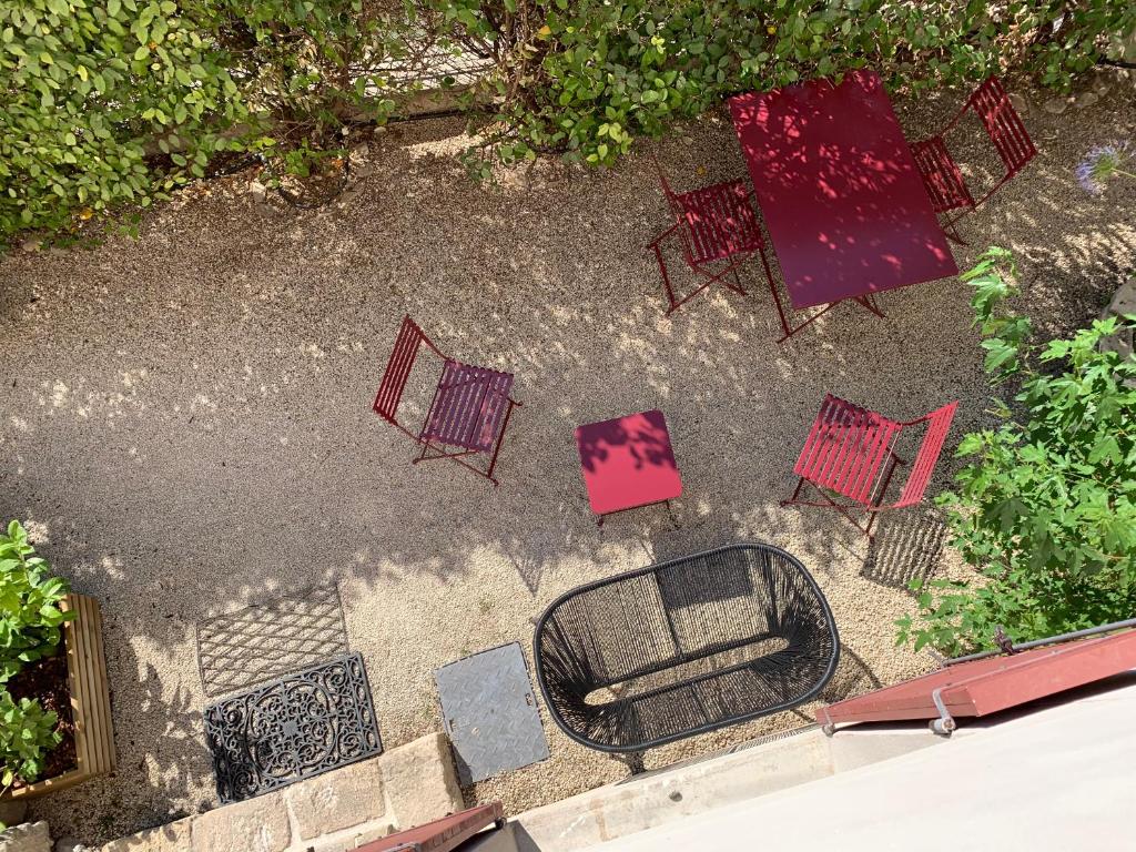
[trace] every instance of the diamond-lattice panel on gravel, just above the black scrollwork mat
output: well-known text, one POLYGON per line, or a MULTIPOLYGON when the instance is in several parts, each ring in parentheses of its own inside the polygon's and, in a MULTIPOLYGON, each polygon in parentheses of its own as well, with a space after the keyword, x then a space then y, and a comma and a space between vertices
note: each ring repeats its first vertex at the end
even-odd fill
POLYGON ((198 624, 198 667, 209 696, 247 690, 349 651, 335 585, 198 624))

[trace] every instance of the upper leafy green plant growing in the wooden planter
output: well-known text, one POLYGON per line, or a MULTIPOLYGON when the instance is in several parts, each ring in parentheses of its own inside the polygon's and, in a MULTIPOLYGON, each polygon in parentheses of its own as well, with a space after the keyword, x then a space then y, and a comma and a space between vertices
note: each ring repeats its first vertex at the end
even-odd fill
POLYGON ((11 521, 7 535, 0 534, 0 684, 24 663, 53 654, 60 625, 74 618, 59 609, 67 583, 48 570, 27 543, 27 532, 11 521))

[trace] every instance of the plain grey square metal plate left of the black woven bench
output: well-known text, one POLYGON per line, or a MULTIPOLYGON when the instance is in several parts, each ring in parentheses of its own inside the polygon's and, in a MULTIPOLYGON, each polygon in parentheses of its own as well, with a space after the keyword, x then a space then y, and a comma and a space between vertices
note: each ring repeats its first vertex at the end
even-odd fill
POLYGON ((462 785, 549 757, 525 655, 516 642, 434 673, 462 785))

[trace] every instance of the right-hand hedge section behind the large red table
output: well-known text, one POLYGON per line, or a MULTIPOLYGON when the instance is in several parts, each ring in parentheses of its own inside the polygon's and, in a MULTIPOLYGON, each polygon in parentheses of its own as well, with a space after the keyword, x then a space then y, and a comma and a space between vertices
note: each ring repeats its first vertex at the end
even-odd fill
POLYGON ((1136 26, 1124 0, 434 0, 496 51, 500 105, 471 165, 562 150, 611 164, 744 90, 870 65, 891 85, 974 80, 1014 64, 1067 86, 1136 26))

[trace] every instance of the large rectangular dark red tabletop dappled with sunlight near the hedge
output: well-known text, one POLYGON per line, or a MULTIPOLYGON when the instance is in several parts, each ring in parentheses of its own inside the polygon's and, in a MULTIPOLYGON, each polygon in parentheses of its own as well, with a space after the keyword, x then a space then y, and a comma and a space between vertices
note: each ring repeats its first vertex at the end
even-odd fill
POLYGON ((959 272, 875 72, 729 109, 794 308, 959 272))

